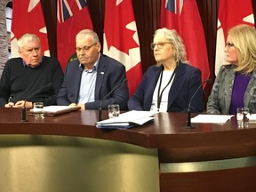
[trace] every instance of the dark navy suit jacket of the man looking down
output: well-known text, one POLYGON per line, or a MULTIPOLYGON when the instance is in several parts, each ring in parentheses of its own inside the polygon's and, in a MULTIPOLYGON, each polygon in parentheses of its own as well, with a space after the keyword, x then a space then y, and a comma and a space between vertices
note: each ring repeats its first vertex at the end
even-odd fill
MULTIPOLYGON (((65 71, 64 81, 57 97, 58 105, 69 105, 77 103, 81 83, 82 70, 79 68, 79 60, 68 63, 65 71)), ((95 101, 85 103, 85 109, 99 109, 100 100, 108 92, 120 84, 126 78, 125 68, 117 60, 101 54, 97 68, 96 86, 94 92, 95 101)), ((109 104, 119 104, 121 109, 127 109, 129 99, 127 84, 122 84, 105 100, 102 100, 102 108, 107 109, 109 104)))

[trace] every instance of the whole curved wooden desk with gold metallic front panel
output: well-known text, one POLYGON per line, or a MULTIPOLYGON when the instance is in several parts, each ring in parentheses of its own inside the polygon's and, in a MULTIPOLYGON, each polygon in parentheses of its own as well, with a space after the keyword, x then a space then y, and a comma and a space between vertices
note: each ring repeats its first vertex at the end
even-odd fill
POLYGON ((256 126, 238 129, 235 117, 186 129, 186 114, 159 113, 102 130, 97 110, 20 114, 0 108, 0 191, 256 191, 256 126))

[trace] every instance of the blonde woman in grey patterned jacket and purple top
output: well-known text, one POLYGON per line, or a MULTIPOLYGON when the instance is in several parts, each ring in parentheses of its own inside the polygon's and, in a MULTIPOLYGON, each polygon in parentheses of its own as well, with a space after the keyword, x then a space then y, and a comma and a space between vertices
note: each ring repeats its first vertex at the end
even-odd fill
POLYGON ((256 31, 248 25, 228 30, 225 46, 228 64, 220 67, 207 102, 209 114, 236 114, 247 107, 256 113, 256 31))

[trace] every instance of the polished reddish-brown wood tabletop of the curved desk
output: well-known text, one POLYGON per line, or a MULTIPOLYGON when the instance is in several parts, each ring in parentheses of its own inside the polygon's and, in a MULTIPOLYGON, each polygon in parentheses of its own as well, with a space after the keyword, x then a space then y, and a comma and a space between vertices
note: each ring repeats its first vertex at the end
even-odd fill
MULTIPOLYGON (((192 114, 196 116, 197 114, 192 114)), ((103 119, 107 119, 103 111, 103 119)), ((159 113, 148 124, 130 129, 99 129, 98 110, 75 111, 59 116, 36 119, 27 115, 28 122, 21 122, 20 108, 0 108, 0 134, 42 134, 79 136, 104 140, 116 140, 145 148, 195 148, 223 146, 236 142, 255 142, 256 126, 239 129, 236 117, 226 124, 192 124, 186 128, 186 113, 159 113)))

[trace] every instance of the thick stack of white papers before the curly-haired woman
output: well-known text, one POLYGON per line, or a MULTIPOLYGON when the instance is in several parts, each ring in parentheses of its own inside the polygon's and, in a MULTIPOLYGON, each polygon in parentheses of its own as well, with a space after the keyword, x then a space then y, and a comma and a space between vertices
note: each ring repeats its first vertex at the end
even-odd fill
POLYGON ((154 119, 153 112, 132 110, 123 113, 120 116, 97 122, 96 127, 108 129, 127 129, 135 125, 145 124, 152 119, 154 119))

